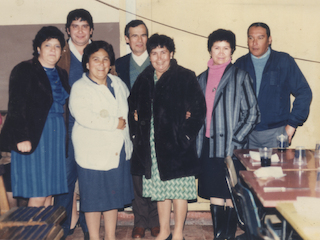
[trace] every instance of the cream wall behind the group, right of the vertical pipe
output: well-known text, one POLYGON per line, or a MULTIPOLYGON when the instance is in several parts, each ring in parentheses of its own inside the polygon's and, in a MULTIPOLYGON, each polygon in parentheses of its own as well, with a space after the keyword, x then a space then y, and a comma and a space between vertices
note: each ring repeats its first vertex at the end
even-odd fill
POLYGON ((151 34, 158 32, 174 38, 175 58, 178 63, 192 69, 196 74, 206 69, 209 60, 207 36, 212 31, 225 28, 236 34, 238 47, 233 55, 234 61, 248 52, 246 31, 251 23, 257 21, 269 25, 273 49, 287 52, 295 58, 318 61, 312 63, 296 60, 312 89, 313 100, 309 118, 298 128, 291 145, 291 147, 302 145, 314 148, 316 140, 320 139, 318 127, 320 113, 317 111, 320 107, 318 94, 320 31, 316 27, 319 25, 319 1, 136 0, 136 2, 137 15, 200 35, 194 36, 145 20, 151 34))

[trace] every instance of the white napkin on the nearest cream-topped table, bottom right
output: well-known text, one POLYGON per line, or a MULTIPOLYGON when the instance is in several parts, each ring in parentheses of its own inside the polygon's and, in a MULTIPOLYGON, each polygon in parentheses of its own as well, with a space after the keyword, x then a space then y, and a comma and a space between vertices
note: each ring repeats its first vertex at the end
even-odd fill
POLYGON ((297 197, 297 201, 293 202, 293 205, 298 214, 320 221, 320 198, 297 197))

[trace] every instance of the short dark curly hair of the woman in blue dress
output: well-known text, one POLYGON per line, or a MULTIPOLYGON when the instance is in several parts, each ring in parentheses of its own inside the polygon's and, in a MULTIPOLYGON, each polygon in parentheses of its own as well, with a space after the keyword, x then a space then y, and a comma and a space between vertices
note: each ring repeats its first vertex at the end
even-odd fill
POLYGON ((38 57, 38 47, 41 48, 41 44, 50 39, 57 39, 60 42, 61 50, 65 46, 65 39, 63 33, 54 26, 42 27, 39 32, 36 34, 33 40, 33 56, 38 57))

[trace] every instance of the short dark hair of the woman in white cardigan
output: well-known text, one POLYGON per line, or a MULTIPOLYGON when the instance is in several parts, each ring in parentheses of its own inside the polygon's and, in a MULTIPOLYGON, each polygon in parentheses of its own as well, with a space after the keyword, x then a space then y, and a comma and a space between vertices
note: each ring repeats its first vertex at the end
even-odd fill
POLYGON ((98 52, 100 49, 103 49, 108 53, 109 60, 110 60, 110 66, 114 65, 115 56, 114 56, 112 45, 105 42, 105 41, 92 41, 83 50, 82 67, 83 67, 84 72, 89 71, 89 69, 87 69, 87 63, 89 62, 90 56, 93 53, 98 52))

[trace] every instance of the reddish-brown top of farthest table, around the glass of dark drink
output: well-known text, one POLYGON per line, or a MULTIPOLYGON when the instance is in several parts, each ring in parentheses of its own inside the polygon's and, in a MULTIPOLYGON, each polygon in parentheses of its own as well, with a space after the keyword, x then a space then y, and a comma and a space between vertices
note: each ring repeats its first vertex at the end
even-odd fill
MULTIPOLYGON (((260 161, 252 160, 248 155, 249 151, 256 151, 258 149, 236 149, 233 151, 234 155, 240 160, 244 167, 248 171, 255 171, 261 167, 260 161)), ((273 149, 272 154, 277 154, 280 162, 271 163, 271 166, 279 166, 283 171, 300 171, 300 170, 317 170, 320 166, 319 158, 314 157, 314 150, 306 150, 307 164, 306 165, 296 165, 293 164, 295 149, 287 149, 284 152, 280 152, 277 149, 273 149)))

